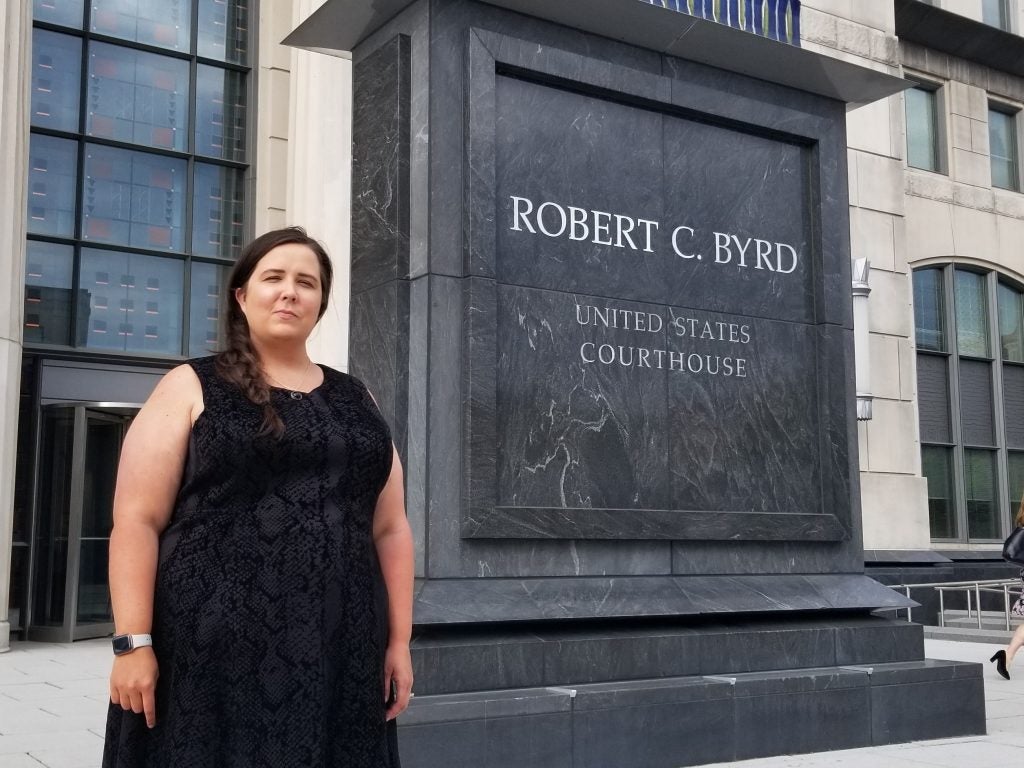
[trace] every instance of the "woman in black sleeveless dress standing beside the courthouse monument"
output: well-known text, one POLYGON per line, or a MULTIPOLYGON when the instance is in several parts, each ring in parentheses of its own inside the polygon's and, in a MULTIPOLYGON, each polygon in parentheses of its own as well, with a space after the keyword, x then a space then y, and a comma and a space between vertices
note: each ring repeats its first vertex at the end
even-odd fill
POLYGON ((413 541, 374 400, 306 353, 331 280, 302 229, 250 244, 226 348, 125 438, 104 768, 398 766, 413 541))

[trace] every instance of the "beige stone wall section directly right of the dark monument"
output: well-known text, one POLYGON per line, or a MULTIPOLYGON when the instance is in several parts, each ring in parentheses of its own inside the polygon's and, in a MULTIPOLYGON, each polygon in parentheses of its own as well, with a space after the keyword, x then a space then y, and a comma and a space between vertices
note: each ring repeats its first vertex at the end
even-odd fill
MULTIPOLYGON (((890 0, 805 0, 803 47, 900 74, 890 0)), ((902 95, 847 115, 850 250, 871 263, 869 350, 873 419, 860 422, 865 549, 928 549, 921 476, 913 313, 907 261, 902 95)))

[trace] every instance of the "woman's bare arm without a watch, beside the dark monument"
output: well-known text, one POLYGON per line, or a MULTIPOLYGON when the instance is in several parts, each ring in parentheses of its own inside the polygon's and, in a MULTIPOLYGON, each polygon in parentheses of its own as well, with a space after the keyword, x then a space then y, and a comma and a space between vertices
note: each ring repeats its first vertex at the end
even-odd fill
POLYGON ((401 461, 394 459, 387 484, 374 512, 374 544, 388 594, 388 647, 384 657, 384 699, 394 682, 396 696, 387 711, 393 720, 409 707, 413 691, 413 662, 409 643, 413 635, 413 531, 406 517, 406 490, 401 461))

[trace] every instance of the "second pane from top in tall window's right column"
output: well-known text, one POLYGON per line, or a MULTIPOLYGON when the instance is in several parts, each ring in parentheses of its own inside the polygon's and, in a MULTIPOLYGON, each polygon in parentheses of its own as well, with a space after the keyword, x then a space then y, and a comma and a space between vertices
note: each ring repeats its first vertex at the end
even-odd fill
POLYGON ((246 88, 240 73, 198 67, 196 154, 240 162, 246 159, 246 88))

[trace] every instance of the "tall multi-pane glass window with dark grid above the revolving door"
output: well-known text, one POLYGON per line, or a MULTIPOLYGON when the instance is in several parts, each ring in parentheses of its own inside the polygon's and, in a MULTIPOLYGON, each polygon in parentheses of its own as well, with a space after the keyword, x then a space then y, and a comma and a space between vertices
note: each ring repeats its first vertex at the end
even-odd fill
POLYGON ((32 2, 25 339, 205 353, 246 237, 252 4, 32 2))

